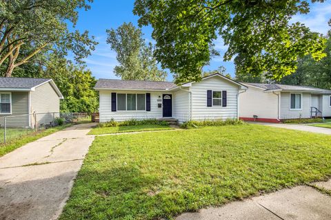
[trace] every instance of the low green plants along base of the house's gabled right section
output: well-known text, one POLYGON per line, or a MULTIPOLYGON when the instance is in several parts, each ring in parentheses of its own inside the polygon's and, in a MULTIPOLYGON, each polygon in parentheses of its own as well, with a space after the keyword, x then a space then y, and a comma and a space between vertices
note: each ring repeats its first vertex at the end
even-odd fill
POLYGON ((182 129, 193 129, 199 126, 224 126, 231 124, 245 124, 242 120, 227 119, 227 120, 204 120, 204 121, 188 121, 181 124, 182 129))

